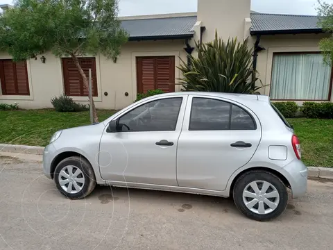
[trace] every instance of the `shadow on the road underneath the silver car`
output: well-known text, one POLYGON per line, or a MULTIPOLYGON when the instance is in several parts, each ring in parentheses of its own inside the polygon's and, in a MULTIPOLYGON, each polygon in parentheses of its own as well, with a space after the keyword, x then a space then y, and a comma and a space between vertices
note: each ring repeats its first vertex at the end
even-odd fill
MULTIPOLYGON (((44 179, 43 179, 44 180, 44 179)), ((45 180, 42 181, 45 184, 45 180)), ((40 184, 42 184, 40 183, 40 184)), ((53 186, 53 183, 47 180, 47 186, 53 191, 49 199, 66 199, 58 190, 53 186), (58 198, 57 198, 58 197, 58 198)), ((168 192, 160 190, 143 190, 135 188, 119 188, 110 186, 96 185, 95 190, 85 199, 73 201, 76 206, 83 203, 90 203, 96 209, 109 209, 113 206, 115 209, 136 210, 139 208, 145 209, 146 212, 161 210, 166 213, 176 212, 180 214, 189 215, 187 212, 194 212, 198 214, 210 213, 212 215, 227 215, 232 218, 246 219, 241 215, 231 198, 213 197, 201 194, 187 194, 180 192, 168 192)), ((289 199, 289 204, 286 211, 277 219, 280 222, 289 221, 300 218, 301 213, 298 211, 297 204, 289 199)), ((241 219, 242 220, 242 219, 241 219)), ((249 219, 250 220, 250 219, 249 219)), ((250 220, 251 221, 251 220, 250 220)), ((272 222, 275 222, 273 220, 272 222)))

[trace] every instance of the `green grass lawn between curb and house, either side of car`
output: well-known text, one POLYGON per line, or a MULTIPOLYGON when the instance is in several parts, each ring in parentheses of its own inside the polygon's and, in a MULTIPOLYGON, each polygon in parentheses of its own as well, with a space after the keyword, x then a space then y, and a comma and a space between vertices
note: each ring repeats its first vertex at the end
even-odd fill
MULTIPOLYGON (((99 120, 114 111, 99 110, 99 120)), ((333 167, 333 119, 288 119, 302 147, 308 166, 333 167)), ((62 128, 89 124, 89 113, 57 113, 54 110, 0 111, 0 143, 45 146, 62 128)))

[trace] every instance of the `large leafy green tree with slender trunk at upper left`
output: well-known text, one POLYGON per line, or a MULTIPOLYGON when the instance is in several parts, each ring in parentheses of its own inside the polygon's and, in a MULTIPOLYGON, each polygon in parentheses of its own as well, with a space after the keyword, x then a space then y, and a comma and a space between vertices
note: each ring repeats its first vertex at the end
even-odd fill
MULTIPOLYGON (((121 28, 119 0, 17 0, 0 17, 0 47, 14 60, 26 60, 51 51, 71 56, 83 83, 87 76, 79 56, 117 57, 128 34, 121 28)), ((94 122, 98 122, 93 105, 94 122)))

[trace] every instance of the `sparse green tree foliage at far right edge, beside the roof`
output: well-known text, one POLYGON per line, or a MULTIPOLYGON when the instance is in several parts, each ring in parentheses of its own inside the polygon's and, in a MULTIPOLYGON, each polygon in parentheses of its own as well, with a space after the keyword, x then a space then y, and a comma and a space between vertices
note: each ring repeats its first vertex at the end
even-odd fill
POLYGON ((323 51, 324 63, 331 65, 333 60, 333 3, 318 0, 316 10, 319 17, 318 26, 321 26, 326 33, 330 33, 329 37, 321 39, 319 47, 323 51))

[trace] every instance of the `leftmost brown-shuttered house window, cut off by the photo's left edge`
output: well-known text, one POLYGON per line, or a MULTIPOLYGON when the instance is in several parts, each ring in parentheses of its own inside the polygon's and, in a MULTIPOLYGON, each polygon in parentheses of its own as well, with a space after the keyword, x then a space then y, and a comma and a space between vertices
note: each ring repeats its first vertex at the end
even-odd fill
POLYGON ((0 60, 0 81, 3 95, 30 95, 26 61, 0 60))

